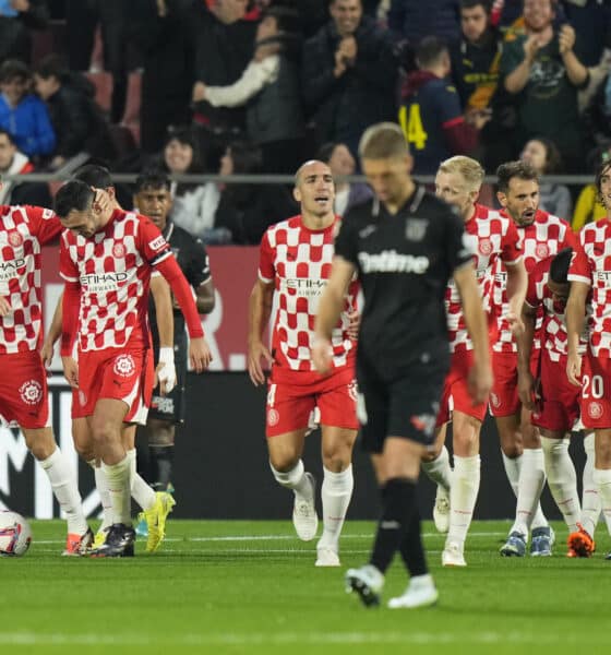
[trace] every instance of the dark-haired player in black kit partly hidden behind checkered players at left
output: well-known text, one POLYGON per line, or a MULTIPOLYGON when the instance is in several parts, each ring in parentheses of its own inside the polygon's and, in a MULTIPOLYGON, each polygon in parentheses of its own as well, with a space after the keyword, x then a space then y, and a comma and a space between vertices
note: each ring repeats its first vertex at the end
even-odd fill
MULTIPOLYGON (((134 205, 141 214, 153 221, 170 245, 187 281, 195 291, 200 313, 209 313, 214 309, 214 285, 208 257, 200 239, 172 223, 169 216, 170 180, 165 172, 151 170, 140 175, 135 182, 134 205)), ((149 449, 148 474, 145 473, 144 477, 158 491, 166 491, 170 486, 176 426, 184 422, 187 333, 182 313, 176 302, 173 306, 173 354, 169 355, 175 356, 177 384, 166 395, 161 395, 158 389, 153 391, 148 420, 146 426, 137 430, 139 446, 147 443, 149 449)), ((153 346, 157 353, 158 332, 155 312, 149 311, 148 317, 153 346)), ((143 533, 144 527, 141 522, 139 534, 143 533)))

